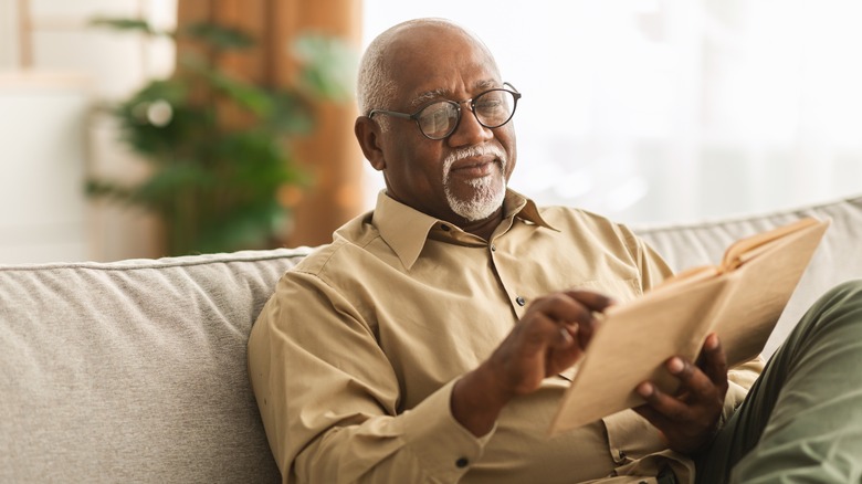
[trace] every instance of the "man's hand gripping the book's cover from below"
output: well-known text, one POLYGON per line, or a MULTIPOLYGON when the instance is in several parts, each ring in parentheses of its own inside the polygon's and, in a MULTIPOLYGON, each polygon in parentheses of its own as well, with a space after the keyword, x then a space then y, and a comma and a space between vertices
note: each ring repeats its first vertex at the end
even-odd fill
POLYGON ((709 443, 718 425, 727 393, 727 358, 718 337, 712 334, 703 345, 698 366, 673 357, 666 368, 680 379, 680 393, 670 396, 643 382, 638 393, 646 404, 634 411, 662 432, 671 449, 692 454, 709 443))

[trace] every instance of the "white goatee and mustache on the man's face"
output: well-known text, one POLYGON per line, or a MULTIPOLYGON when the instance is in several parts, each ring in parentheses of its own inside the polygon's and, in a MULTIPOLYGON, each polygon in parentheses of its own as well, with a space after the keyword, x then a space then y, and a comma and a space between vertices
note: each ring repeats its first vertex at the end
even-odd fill
POLYGON ((443 160, 443 190, 449 208, 470 222, 487 219, 503 206, 503 200, 506 198, 506 178, 503 175, 505 171, 506 156, 495 146, 471 147, 454 151, 443 160), (497 166, 500 169, 498 176, 470 180, 470 185, 474 189, 473 196, 466 200, 455 197, 450 188, 451 180, 449 179, 452 164, 464 158, 482 155, 494 155, 500 160, 497 166))

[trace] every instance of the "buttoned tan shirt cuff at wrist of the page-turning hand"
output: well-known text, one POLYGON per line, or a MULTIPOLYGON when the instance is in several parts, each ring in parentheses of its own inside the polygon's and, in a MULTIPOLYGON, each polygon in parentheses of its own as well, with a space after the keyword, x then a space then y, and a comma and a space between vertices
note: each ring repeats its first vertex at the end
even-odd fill
POLYGON ((454 385, 455 381, 450 381, 402 414, 406 448, 443 482, 454 482, 466 473, 496 431, 495 425, 487 434, 476 438, 452 417, 450 402, 454 385))

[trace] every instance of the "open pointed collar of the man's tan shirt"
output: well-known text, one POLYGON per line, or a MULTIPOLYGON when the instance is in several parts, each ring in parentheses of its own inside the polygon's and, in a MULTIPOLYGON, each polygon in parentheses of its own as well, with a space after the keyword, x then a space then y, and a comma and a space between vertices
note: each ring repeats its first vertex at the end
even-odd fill
MULTIPOLYGON (((504 221, 518 218, 527 222, 540 225, 554 231, 554 227, 545 221, 539 213, 536 203, 506 189, 503 201, 504 221)), ((425 245, 429 232, 434 225, 451 223, 435 219, 411 207, 396 201, 381 190, 377 194, 377 206, 371 222, 380 232, 383 241, 395 251, 404 267, 410 269, 419 259, 422 248, 425 245)))

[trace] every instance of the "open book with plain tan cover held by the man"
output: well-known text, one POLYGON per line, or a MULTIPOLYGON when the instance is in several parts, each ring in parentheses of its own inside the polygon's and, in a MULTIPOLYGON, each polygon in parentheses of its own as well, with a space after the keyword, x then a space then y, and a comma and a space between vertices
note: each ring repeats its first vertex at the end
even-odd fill
POLYGON ((694 361, 716 333, 728 368, 763 351, 829 221, 806 218, 734 242, 719 265, 681 272, 643 296, 608 308, 575 368, 550 431, 574 429, 644 401, 643 381, 674 393, 664 368, 694 361))

